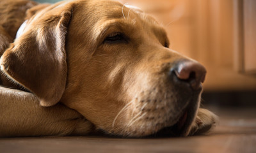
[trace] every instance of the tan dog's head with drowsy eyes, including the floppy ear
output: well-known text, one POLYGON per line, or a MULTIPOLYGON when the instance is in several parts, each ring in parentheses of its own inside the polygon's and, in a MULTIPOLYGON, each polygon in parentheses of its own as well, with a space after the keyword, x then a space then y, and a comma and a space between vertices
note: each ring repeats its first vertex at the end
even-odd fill
POLYGON ((31 17, 1 69, 42 106, 61 101, 106 133, 188 135, 205 69, 168 45, 163 27, 137 8, 71 1, 31 17))

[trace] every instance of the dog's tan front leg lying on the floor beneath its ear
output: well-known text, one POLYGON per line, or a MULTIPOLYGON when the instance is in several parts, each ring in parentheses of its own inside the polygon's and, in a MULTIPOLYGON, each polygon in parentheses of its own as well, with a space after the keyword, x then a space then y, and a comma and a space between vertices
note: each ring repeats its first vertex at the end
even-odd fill
POLYGON ((0 87, 0 136, 86 135, 92 124, 75 110, 39 105, 29 92, 0 87))

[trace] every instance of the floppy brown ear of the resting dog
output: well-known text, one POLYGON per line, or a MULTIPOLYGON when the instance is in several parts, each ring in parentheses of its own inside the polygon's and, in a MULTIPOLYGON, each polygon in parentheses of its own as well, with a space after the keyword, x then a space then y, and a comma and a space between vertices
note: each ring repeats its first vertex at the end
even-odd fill
POLYGON ((33 92, 42 106, 58 103, 65 90, 65 37, 71 16, 71 6, 40 13, 0 60, 7 77, 33 92))

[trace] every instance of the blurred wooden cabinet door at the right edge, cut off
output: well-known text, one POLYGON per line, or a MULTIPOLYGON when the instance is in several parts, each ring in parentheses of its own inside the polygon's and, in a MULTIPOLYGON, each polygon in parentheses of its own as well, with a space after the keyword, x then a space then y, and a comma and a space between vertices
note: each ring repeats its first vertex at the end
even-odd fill
POLYGON ((256 1, 234 1, 234 68, 256 75, 256 1))

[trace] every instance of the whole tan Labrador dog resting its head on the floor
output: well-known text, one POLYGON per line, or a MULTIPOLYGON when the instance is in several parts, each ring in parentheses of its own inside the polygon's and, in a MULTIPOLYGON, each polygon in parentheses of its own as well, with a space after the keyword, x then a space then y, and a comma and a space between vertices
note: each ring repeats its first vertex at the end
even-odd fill
POLYGON ((111 0, 0 2, 0 136, 188 136, 204 66, 169 48, 163 27, 111 0))

